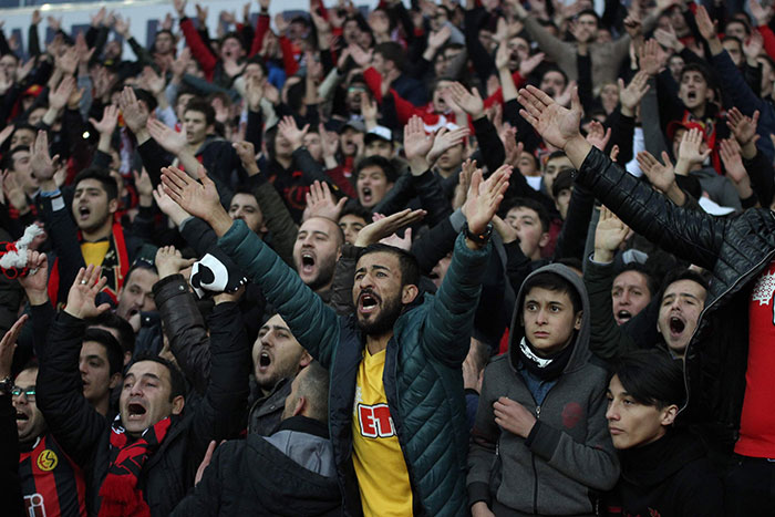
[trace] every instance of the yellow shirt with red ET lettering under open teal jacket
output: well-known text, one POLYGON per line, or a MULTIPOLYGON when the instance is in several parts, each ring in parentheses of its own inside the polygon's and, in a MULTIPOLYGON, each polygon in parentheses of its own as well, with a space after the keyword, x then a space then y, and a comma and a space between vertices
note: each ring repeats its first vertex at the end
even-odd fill
POLYGON ((385 351, 366 349, 358 368, 352 411, 352 463, 368 516, 412 515, 409 471, 390 416, 382 372, 385 351))

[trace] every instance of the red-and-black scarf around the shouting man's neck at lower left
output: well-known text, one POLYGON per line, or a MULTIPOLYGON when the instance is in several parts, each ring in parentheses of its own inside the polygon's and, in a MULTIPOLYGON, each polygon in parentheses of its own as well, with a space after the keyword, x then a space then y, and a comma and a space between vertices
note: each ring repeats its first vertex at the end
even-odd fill
POLYGON ((151 517, 151 508, 137 486, 140 473, 148 456, 158 448, 170 424, 167 416, 130 443, 121 425, 121 416, 116 416, 111 427, 111 466, 100 488, 100 517, 151 517))

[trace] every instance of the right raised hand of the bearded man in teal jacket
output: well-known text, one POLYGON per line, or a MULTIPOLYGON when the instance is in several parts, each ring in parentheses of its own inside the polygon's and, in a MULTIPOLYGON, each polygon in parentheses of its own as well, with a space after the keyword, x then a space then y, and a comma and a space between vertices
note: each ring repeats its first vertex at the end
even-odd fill
MULTIPOLYGON (((510 165, 502 165, 486 182, 483 179, 480 168, 471 175, 471 186, 463 205, 463 214, 466 216, 472 234, 483 234, 493 220, 508 188, 508 178, 513 170, 510 165)), ((478 245, 474 246, 478 247, 478 245)))

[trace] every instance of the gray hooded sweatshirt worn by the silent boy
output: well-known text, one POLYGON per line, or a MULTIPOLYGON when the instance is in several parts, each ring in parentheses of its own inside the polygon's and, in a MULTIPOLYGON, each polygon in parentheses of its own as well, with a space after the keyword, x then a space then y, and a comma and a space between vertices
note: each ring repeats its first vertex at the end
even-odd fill
MULTIPOLYGON (((552 272, 579 292, 583 316, 574 350, 540 406, 516 366, 524 338, 519 291, 508 353, 487 365, 468 451, 468 502, 487 503, 495 515, 595 515, 595 495, 619 478, 617 454, 608 433, 608 374, 589 352, 589 300, 582 280, 552 263, 534 271, 552 272), (500 396, 518 402, 538 418, 527 438, 495 423, 493 403, 500 396)), ((527 280, 526 280, 527 281, 527 280)))

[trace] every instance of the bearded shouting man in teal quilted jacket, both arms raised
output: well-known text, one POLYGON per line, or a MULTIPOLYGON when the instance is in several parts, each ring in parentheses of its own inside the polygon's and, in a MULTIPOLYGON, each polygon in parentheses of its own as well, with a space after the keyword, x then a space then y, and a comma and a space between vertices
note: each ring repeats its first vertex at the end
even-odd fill
MULTIPOLYGON (((482 189, 480 170, 473 175, 467 228, 436 296, 418 296, 411 255, 375 245, 356 265, 356 313, 337 317, 255 234, 228 217, 204 170, 198 184, 164 169, 167 193, 213 226, 221 249, 329 370, 329 430, 348 515, 467 515, 461 365, 489 255, 489 221, 509 175, 510 167, 502 167, 482 189)), ((391 218, 409 220, 412 214, 391 218)))

